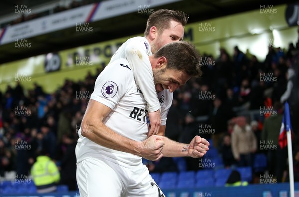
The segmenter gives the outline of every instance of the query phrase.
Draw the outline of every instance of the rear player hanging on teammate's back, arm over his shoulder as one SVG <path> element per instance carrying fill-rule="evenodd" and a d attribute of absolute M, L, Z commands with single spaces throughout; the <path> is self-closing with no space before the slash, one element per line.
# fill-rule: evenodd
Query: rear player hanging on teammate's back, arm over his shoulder
<path fill-rule="evenodd" d="M 160 9 L 149 16 L 145 37 L 128 39 L 112 56 L 111 61 L 126 58 L 131 65 L 138 89 L 143 93 L 147 102 L 147 111 L 151 129 L 149 136 L 159 132 L 160 125 L 165 125 L 166 119 L 162 119 L 160 103 L 153 84 L 152 69 L 149 55 L 167 43 L 177 42 L 184 37 L 184 26 L 188 16 L 181 11 Z M 170 90 L 172 91 L 172 90 Z"/>

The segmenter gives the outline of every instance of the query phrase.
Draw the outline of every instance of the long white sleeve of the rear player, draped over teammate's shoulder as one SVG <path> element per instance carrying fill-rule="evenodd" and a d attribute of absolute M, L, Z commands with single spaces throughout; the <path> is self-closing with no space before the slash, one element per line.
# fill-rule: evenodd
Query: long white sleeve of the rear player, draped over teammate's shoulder
<path fill-rule="evenodd" d="M 139 86 L 147 102 L 149 112 L 160 109 L 153 82 L 152 67 L 149 61 L 151 55 L 149 42 L 144 37 L 135 37 L 127 40 L 113 55 L 115 58 L 126 58 L 131 65 L 136 84 Z"/>

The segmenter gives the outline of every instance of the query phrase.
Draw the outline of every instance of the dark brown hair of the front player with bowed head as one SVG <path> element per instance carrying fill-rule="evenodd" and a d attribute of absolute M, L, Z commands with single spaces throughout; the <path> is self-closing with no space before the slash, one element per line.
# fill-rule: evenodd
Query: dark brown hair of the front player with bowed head
<path fill-rule="evenodd" d="M 161 47 L 154 57 L 164 56 L 167 59 L 167 69 L 183 71 L 190 77 L 200 76 L 199 54 L 194 45 L 185 41 L 172 42 Z"/>

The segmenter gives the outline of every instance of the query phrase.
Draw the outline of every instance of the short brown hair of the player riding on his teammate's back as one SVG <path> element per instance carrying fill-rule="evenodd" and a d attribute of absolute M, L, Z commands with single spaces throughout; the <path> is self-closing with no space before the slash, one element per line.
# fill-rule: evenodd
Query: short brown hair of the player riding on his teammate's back
<path fill-rule="evenodd" d="M 155 26 L 159 32 L 169 28 L 170 21 L 176 21 L 185 26 L 188 22 L 188 16 L 182 11 L 174 11 L 169 9 L 159 9 L 153 12 L 147 21 L 147 27 L 144 35 L 149 35 L 151 27 Z"/>

